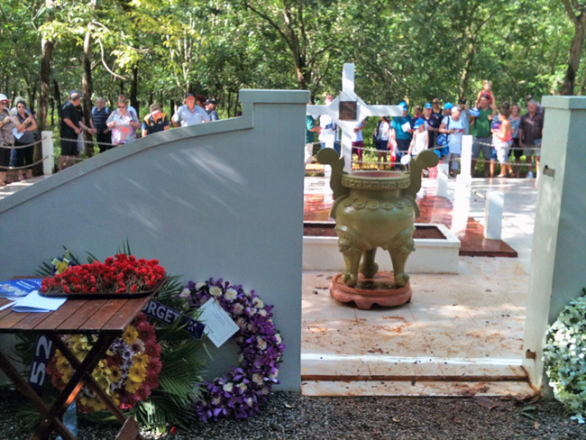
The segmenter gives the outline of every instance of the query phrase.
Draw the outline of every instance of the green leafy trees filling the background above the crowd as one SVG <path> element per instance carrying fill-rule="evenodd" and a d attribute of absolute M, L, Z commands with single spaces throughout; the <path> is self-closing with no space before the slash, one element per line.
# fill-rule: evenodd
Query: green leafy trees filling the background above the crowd
<path fill-rule="evenodd" d="M 193 92 L 215 98 L 224 114 L 234 115 L 240 88 L 335 94 L 343 63 L 354 62 L 357 93 L 372 104 L 471 99 L 484 79 L 492 80 L 499 100 L 562 91 L 581 95 L 584 37 L 576 23 L 585 14 L 571 15 L 568 5 L 5 0 L 0 93 L 25 96 L 33 107 L 52 105 L 44 115 L 53 115 L 69 90 L 90 95 L 87 106 L 96 96 L 113 102 L 124 92 L 134 105 L 157 102 L 168 109 Z"/>

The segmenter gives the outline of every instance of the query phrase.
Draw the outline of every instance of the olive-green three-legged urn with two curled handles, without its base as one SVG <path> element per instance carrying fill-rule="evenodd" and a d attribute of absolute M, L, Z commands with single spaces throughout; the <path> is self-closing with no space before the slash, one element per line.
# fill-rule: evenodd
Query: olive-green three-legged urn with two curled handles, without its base
<path fill-rule="evenodd" d="M 330 187 L 338 245 L 345 261 L 343 283 L 353 288 L 358 273 L 372 279 L 379 270 L 374 262 L 377 248 L 390 254 L 395 287 L 407 285 L 405 263 L 414 250 L 413 233 L 419 208 L 415 201 L 421 188 L 421 171 L 437 165 L 434 151 L 422 151 L 411 160 L 409 171 L 343 172 L 343 159 L 333 149 L 323 149 L 317 160 L 331 165 Z M 362 260 L 362 264 L 361 264 Z"/>

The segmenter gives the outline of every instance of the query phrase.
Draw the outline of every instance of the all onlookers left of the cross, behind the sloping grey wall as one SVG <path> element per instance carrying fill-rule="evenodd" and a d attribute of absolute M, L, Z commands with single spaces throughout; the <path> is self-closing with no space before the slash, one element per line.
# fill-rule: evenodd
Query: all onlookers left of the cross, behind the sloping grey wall
<path fill-rule="evenodd" d="M 68 102 L 60 108 L 59 170 L 75 163 L 79 152 L 85 150 L 84 132 L 95 136 L 99 151 L 103 152 L 133 142 L 138 137 L 139 129 L 144 137 L 169 130 L 170 124 L 187 127 L 219 119 L 215 100 L 206 99 L 203 95 L 188 93 L 184 105 L 179 106 L 170 120 L 158 104 L 151 104 L 149 114 L 141 119 L 133 105 L 129 105 L 126 96 L 120 95 L 115 109 L 106 106 L 104 98 L 96 98 L 96 106 L 91 110 L 87 126 L 84 124 L 82 97 L 79 92 L 72 91 Z M 8 97 L 0 94 L 0 186 L 31 178 L 36 132 L 34 113 L 27 107 L 26 100 L 17 96 L 11 109 Z M 7 172 L 10 168 L 21 172 L 15 177 L 14 173 Z"/>

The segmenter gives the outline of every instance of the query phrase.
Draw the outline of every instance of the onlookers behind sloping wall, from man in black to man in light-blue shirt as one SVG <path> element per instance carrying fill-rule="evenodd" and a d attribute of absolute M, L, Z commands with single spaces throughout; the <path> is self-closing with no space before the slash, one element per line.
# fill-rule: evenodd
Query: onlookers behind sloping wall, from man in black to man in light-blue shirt
<path fill-rule="evenodd" d="M 151 104 L 149 114 L 141 119 L 133 105 L 128 103 L 126 96 L 120 95 L 115 109 L 105 106 L 104 98 L 98 97 L 89 117 L 90 127 L 87 127 L 83 123 L 81 98 L 78 92 L 71 92 L 68 103 L 63 105 L 61 110 L 60 170 L 78 160 L 79 151 L 85 148 L 82 137 L 84 131 L 96 136 L 98 148 L 103 152 L 135 141 L 139 129 L 141 136 L 144 137 L 169 130 L 171 124 L 174 127 L 187 127 L 219 119 L 215 110 L 215 100 L 206 99 L 206 96 L 202 95 L 188 93 L 184 98 L 184 105 L 179 106 L 170 120 L 158 104 Z"/>

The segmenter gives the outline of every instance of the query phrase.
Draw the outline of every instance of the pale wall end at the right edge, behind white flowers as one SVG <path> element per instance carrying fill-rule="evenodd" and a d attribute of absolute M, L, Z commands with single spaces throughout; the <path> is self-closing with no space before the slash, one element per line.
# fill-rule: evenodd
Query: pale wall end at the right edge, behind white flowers
<path fill-rule="evenodd" d="M 586 97 L 544 96 L 536 222 L 529 273 L 523 366 L 531 383 L 549 393 L 544 371 L 545 330 L 586 287 Z M 544 173 L 546 168 L 547 172 Z"/>

